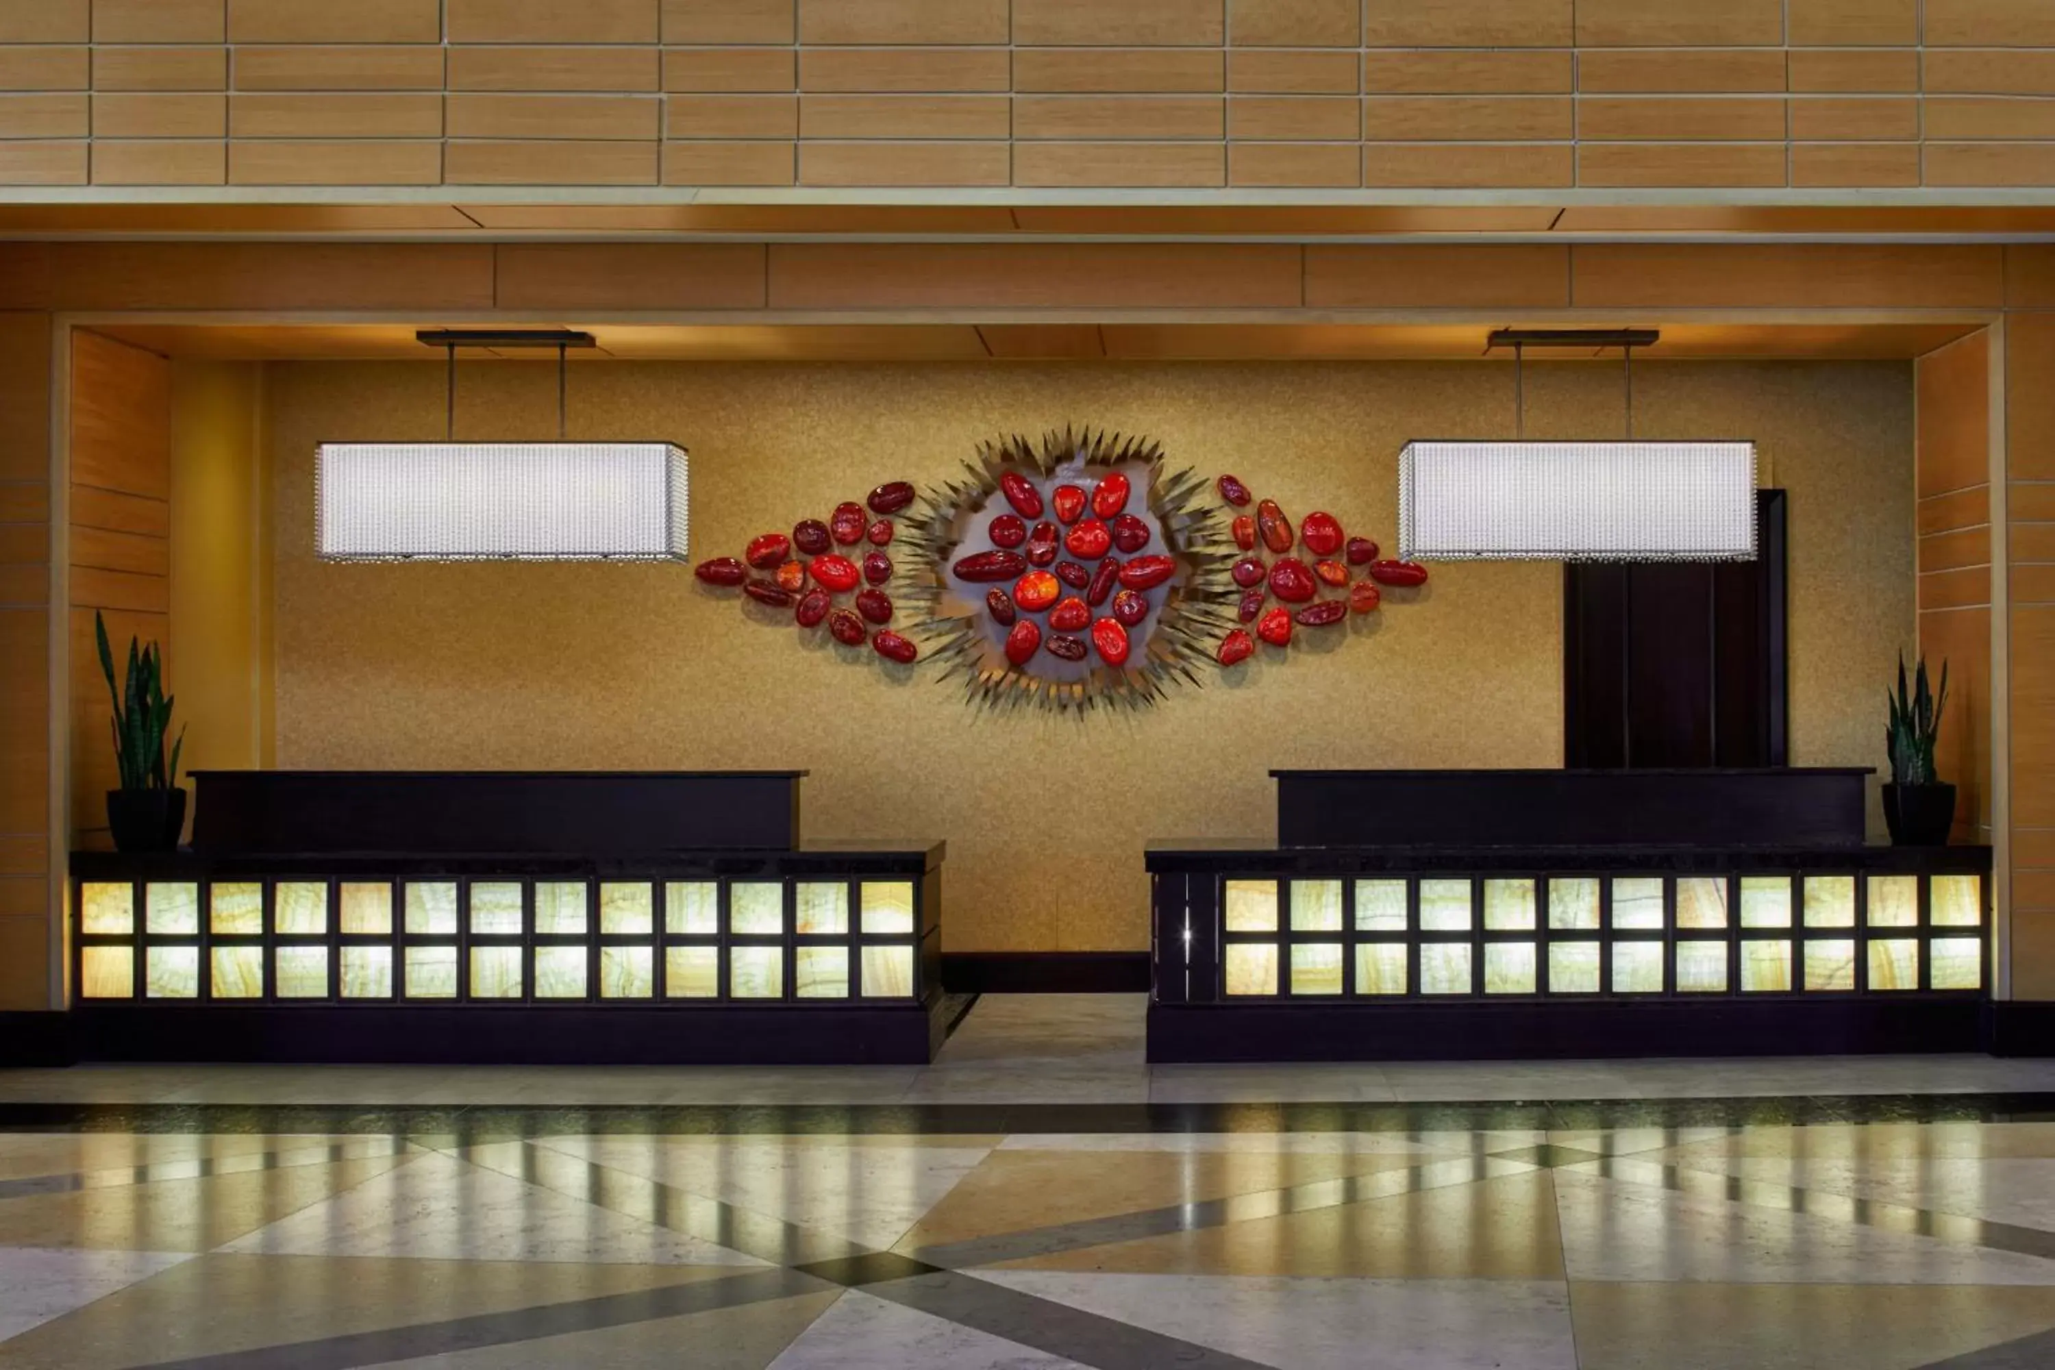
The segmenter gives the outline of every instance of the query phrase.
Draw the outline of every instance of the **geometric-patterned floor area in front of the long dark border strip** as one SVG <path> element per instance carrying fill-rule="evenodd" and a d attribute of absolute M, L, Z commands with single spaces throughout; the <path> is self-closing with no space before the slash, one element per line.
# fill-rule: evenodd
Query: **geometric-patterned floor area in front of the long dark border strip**
<path fill-rule="evenodd" d="M 2045 1370 L 2055 1121 L 1967 1107 L 1223 1132 L 1052 1107 L 1013 1134 L 499 1111 L 477 1136 L 144 1111 L 0 1134 L 0 1366 Z"/>

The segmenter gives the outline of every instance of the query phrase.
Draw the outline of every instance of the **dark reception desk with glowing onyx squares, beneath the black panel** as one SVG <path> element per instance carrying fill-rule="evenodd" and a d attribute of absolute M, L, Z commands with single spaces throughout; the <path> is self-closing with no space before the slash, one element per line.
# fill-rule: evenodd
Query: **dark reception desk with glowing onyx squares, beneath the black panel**
<path fill-rule="evenodd" d="M 1278 844 L 1147 852 L 1151 1060 L 1983 1041 L 1991 852 L 1862 844 L 1862 770 L 1274 774 Z"/>

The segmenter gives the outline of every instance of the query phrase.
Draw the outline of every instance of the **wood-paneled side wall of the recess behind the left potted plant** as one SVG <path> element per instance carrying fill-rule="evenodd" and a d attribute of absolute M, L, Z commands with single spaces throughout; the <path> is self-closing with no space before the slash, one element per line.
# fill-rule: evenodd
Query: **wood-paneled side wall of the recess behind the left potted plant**
<path fill-rule="evenodd" d="M 107 846 L 115 754 L 92 616 L 115 672 L 132 637 L 171 655 L 171 361 L 72 333 L 72 838 Z"/>

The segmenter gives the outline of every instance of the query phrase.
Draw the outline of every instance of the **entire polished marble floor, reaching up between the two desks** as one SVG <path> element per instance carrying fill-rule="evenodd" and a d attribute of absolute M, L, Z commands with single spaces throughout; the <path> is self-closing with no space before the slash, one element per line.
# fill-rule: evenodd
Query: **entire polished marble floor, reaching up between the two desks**
<path fill-rule="evenodd" d="M 2055 1366 L 2055 1070 L 0 1072 L 0 1370 Z"/>

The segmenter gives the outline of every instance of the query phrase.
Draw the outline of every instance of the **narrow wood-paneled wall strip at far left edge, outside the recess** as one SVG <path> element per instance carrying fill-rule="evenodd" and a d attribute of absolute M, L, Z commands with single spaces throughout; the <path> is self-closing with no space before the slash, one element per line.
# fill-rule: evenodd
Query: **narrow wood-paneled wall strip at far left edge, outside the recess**
<path fill-rule="evenodd" d="M 0 1013 L 49 1006 L 49 314 L 0 314 Z"/>

